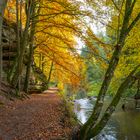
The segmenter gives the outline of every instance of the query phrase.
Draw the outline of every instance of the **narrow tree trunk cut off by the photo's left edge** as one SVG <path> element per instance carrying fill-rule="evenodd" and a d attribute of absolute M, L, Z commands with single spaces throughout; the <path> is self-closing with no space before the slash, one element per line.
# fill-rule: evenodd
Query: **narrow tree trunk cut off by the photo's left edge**
<path fill-rule="evenodd" d="M 2 71 L 3 71 L 3 64 L 2 64 L 2 26 L 3 26 L 3 16 L 4 10 L 6 8 L 7 0 L 0 0 L 0 87 L 2 81 Z"/>

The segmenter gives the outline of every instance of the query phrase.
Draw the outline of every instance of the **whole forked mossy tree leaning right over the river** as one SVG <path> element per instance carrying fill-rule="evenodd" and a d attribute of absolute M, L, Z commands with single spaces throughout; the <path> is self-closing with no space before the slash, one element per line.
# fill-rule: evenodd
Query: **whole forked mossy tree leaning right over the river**
<path fill-rule="evenodd" d="M 123 16 L 123 22 L 121 24 L 121 30 L 120 30 L 120 33 L 118 34 L 118 40 L 116 42 L 116 45 L 114 46 L 114 52 L 110 59 L 109 66 L 106 70 L 104 80 L 103 80 L 101 89 L 99 91 L 93 112 L 90 118 L 87 120 L 87 122 L 80 129 L 80 132 L 79 132 L 80 140 L 89 140 L 90 138 L 96 136 L 103 129 L 103 127 L 109 120 L 111 114 L 114 112 L 115 107 L 117 103 L 119 102 L 120 96 L 122 95 L 124 91 L 124 88 L 128 87 L 136 80 L 134 76 L 139 77 L 139 72 L 135 73 L 135 71 L 138 68 L 137 67 L 128 75 L 126 80 L 122 82 L 111 104 L 105 111 L 102 118 L 99 119 L 99 116 L 103 107 L 103 103 L 104 103 L 104 98 L 109 88 L 110 82 L 113 78 L 114 71 L 118 65 L 120 54 L 122 52 L 122 49 L 124 48 L 126 38 L 128 34 L 131 32 L 131 30 L 136 26 L 136 24 L 140 20 L 140 13 L 137 13 L 135 18 L 131 21 L 131 16 L 132 16 L 135 4 L 136 4 L 135 0 L 134 1 L 126 0 L 125 2 L 122 2 L 122 5 L 124 6 L 124 16 Z"/>

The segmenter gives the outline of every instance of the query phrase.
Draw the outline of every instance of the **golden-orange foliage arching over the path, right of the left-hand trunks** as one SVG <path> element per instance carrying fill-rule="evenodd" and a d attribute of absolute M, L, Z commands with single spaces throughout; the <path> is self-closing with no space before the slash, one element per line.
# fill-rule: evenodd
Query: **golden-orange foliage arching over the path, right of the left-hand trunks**
<path fill-rule="evenodd" d="M 76 87 L 82 78 L 80 71 L 84 63 L 77 53 L 71 51 L 76 46 L 77 30 L 71 13 L 72 4 L 67 0 L 42 0 L 41 6 L 35 34 L 35 53 L 43 55 L 41 63 L 44 64 L 46 75 L 49 73 L 50 63 L 54 62 L 51 81 L 59 81 L 61 88 L 64 83 Z M 34 58 L 39 65 L 38 55 L 34 55 Z"/>

